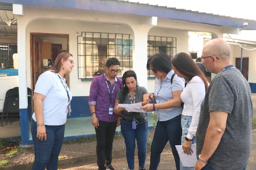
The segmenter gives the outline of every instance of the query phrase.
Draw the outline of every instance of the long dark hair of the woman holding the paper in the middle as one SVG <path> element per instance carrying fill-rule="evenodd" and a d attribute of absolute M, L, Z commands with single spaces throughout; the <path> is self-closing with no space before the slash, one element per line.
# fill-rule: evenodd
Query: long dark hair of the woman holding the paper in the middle
<path fill-rule="evenodd" d="M 134 77 L 134 79 L 136 80 L 136 84 L 137 84 L 136 85 L 136 89 L 137 89 L 137 86 L 138 86 L 138 81 L 137 81 L 136 73 L 134 71 L 132 71 L 132 70 L 125 71 L 125 73 L 123 74 L 123 77 L 122 77 L 123 87 L 121 88 L 121 100 L 120 100 L 120 103 L 124 102 L 125 96 L 129 92 L 128 87 L 125 84 L 125 79 L 128 78 L 128 77 Z M 137 94 L 138 94 L 138 91 L 137 91 Z"/>

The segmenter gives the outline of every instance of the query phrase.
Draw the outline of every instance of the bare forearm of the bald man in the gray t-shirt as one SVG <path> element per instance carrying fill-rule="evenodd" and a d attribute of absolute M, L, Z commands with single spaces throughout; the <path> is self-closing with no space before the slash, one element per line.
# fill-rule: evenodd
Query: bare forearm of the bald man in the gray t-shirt
<path fill-rule="evenodd" d="M 208 160 L 218 147 L 221 137 L 226 129 L 228 113 L 224 111 L 210 111 L 210 121 L 205 134 L 204 146 L 200 158 Z M 201 170 L 206 163 L 197 161 L 195 170 Z"/>

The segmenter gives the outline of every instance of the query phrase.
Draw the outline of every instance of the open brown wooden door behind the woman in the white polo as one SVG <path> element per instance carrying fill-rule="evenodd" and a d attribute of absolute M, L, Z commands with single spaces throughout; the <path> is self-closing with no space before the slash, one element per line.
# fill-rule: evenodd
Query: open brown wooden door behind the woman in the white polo
<path fill-rule="evenodd" d="M 32 35 L 32 86 L 35 90 L 35 83 L 38 77 L 43 73 L 43 55 L 42 55 L 43 39 Z"/>

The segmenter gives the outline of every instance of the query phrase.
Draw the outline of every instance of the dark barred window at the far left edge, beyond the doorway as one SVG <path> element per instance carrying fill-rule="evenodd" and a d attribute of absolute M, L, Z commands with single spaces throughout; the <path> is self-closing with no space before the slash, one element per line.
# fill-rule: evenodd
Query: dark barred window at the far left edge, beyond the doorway
<path fill-rule="evenodd" d="M 0 63 L 4 67 L 13 67 L 13 54 L 17 53 L 17 44 L 0 43 Z"/>

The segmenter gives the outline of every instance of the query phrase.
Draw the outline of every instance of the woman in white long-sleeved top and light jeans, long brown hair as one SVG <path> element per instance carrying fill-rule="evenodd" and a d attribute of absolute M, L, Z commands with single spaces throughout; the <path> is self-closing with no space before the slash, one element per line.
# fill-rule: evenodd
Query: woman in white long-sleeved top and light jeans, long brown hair
<path fill-rule="evenodd" d="M 195 133 L 198 127 L 201 102 L 204 99 L 209 83 L 189 54 L 176 54 L 172 58 L 172 69 L 178 77 L 186 78 L 187 85 L 180 95 L 181 100 L 184 102 L 181 114 L 181 144 L 184 153 L 191 155 L 196 152 L 190 146 L 196 143 Z M 194 170 L 194 167 L 183 167 L 180 161 L 180 170 Z"/>

